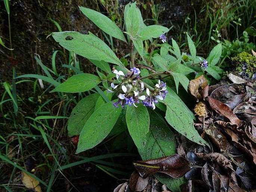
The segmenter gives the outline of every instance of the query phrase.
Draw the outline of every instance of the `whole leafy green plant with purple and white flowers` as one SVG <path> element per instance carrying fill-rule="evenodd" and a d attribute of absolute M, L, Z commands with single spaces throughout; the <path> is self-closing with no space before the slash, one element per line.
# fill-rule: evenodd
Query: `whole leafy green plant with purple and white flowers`
<path fill-rule="evenodd" d="M 220 79 L 222 71 L 216 64 L 221 44 L 204 59 L 197 56 L 195 44 L 187 34 L 190 54 L 181 53 L 174 39 L 172 45 L 167 43 L 168 28 L 144 24 L 135 3 L 125 7 L 124 32 L 107 16 L 84 7 L 80 10 L 111 39 L 114 37 L 132 48 L 127 61 L 125 57 L 118 58 L 113 47 L 110 49 L 91 32 L 87 35 L 71 31 L 52 33 L 65 49 L 97 66 L 98 76 L 74 68 L 77 74 L 55 84 L 52 91 L 90 91 L 77 103 L 68 120 L 69 136 L 79 135 L 76 152 L 93 148 L 107 136 L 118 137 L 126 128 L 142 159 L 175 154 L 173 129 L 192 142 L 208 145 L 193 126 L 194 115 L 177 94 L 179 89 L 188 90 L 189 78 L 204 74 Z M 148 53 L 144 44 L 157 50 Z"/>

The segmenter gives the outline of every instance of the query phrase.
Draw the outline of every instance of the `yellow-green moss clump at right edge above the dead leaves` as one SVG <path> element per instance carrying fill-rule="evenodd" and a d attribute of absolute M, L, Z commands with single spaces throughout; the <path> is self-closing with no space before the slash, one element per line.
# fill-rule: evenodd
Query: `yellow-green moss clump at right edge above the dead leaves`
<path fill-rule="evenodd" d="M 252 78 L 256 72 L 256 57 L 247 52 L 241 52 L 237 56 L 231 58 L 232 65 L 240 75 L 245 79 Z"/>

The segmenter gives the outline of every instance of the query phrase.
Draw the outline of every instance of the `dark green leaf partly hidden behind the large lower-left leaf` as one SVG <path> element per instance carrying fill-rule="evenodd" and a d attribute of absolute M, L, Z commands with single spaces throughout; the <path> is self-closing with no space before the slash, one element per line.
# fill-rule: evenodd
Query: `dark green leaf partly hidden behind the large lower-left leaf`
<path fill-rule="evenodd" d="M 94 93 L 84 97 L 77 103 L 68 119 L 68 136 L 72 137 L 80 134 L 84 124 L 93 114 L 98 98 L 99 94 Z"/>

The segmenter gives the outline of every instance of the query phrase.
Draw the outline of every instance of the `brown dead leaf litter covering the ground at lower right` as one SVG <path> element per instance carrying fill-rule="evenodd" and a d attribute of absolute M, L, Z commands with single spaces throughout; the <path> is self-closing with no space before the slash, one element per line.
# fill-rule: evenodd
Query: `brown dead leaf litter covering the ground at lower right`
<path fill-rule="evenodd" d="M 135 161 L 130 181 L 117 187 L 126 189 L 115 191 L 164 191 L 153 174 L 185 175 L 182 192 L 256 190 L 256 81 L 228 77 L 230 82 L 214 86 L 208 86 L 203 76 L 189 83 L 189 92 L 200 102 L 195 108 L 195 128 L 211 149 L 180 136 L 178 154 Z"/>

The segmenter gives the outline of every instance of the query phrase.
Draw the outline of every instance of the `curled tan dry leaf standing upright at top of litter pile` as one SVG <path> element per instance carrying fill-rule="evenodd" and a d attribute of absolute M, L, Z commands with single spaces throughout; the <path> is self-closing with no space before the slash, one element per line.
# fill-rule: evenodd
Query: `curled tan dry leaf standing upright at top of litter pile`
<path fill-rule="evenodd" d="M 199 93 L 199 88 L 203 89 L 207 85 L 207 79 L 204 77 L 204 75 L 201 75 L 189 82 L 188 90 L 191 95 L 195 96 L 197 99 L 201 99 L 203 96 L 201 96 Z"/>

